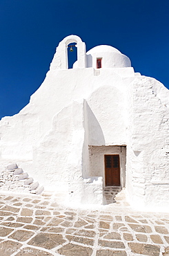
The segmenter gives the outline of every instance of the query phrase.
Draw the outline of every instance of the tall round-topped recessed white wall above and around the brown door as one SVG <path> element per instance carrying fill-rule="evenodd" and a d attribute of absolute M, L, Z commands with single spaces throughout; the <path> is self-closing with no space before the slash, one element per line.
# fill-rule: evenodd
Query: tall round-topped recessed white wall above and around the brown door
<path fill-rule="evenodd" d="M 103 147 L 103 145 L 126 145 L 124 102 L 123 93 L 114 86 L 101 86 L 90 95 L 86 102 L 88 145 L 91 146 L 90 174 L 88 176 L 102 176 L 103 185 L 105 185 L 104 154 L 120 153 L 121 185 L 123 186 L 125 183 L 126 155 L 123 156 L 117 150 L 119 147 Z M 101 147 L 92 147 L 94 145 Z M 95 149 L 94 152 L 91 153 L 91 149 Z"/>

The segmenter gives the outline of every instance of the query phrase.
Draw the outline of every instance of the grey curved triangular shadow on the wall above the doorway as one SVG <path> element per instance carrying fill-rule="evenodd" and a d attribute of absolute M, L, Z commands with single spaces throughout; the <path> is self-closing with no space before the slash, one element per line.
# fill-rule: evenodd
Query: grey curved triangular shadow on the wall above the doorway
<path fill-rule="evenodd" d="M 86 113 L 88 118 L 88 145 L 105 145 L 103 131 L 88 102 L 86 102 Z"/>

